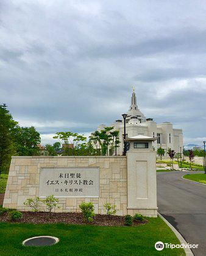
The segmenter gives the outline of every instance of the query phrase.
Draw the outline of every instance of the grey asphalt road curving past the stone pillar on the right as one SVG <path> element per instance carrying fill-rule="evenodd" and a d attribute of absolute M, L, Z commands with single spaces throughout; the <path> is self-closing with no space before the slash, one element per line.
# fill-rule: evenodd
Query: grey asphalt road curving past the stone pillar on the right
<path fill-rule="evenodd" d="M 199 244 L 195 256 L 206 255 L 206 185 L 183 180 L 188 172 L 157 172 L 158 212 L 187 243 Z M 197 172 L 194 172 L 197 173 Z"/>

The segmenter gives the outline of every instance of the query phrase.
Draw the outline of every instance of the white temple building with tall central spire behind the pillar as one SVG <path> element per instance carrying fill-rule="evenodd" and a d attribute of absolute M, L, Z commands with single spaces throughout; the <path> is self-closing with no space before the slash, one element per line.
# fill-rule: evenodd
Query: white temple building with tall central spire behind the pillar
<path fill-rule="evenodd" d="M 119 131 L 119 140 L 121 143 L 119 144 L 117 154 L 122 155 L 124 148 L 124 119 L 116 120 L 111 126 Z M 101 124 L 98 126 L 98 130 L 102 130 L 104 127 L 106 126 Z M 138 108 L 133 88 L 131 105 L 127 111 L 126 117 L 126 137 L 134 137 L 137 135 L 157 137 L 157 140 L 153 143 L 155 150 L 160 147 L 163 149 L 171 148 L 177 153 L 180 152 L 180 147 L 183 147 L 182 129 L 174 129 L 173 125 L 169 122 L 157 124 L 152 118 L 146 118 Z"/>

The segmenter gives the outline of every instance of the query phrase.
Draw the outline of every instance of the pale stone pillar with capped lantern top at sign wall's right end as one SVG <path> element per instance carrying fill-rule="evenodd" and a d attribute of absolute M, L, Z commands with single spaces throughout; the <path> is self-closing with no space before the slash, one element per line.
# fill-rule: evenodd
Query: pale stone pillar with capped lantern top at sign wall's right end
<path fill-rule="evenodd" d="M 138 135 L 127 138 L 127 212 L 157 217 L 156 153 L 152 141 Z"/>

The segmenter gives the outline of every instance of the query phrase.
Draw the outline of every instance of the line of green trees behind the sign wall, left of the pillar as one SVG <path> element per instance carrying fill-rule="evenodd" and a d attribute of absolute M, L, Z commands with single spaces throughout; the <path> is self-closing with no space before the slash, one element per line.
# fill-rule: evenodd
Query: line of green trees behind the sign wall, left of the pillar
<path fill-rule="evenodd" d="M 41 146 L 35 127 L 19 126 L 7 105 L 0 105 L 0 173 L 9 172 L 12 155 L 116 155 L 120 143 L 113 127 L 96 130 L 88 139 L 76 132 L 57 132 L 53 138 L 58 141 Z"/>

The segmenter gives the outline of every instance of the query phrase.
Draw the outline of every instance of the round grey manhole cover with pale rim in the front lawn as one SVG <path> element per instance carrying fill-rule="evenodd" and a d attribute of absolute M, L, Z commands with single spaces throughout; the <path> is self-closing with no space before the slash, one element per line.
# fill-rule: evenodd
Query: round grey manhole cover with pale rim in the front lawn
<path fill-rule="evenodd" d="M 59 239 L 54 236 L 35 236 L 23 241 L 24 246 L 51 246 L 58 243 Z"/>

